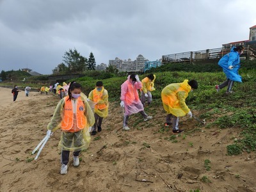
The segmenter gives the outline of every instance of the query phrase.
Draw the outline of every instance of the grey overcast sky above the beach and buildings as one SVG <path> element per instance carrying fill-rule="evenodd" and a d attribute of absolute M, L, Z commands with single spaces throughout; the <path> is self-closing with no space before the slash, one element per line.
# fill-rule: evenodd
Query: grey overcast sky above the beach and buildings
<path fill-rule="evenodd" d="M 97 65 L 248 40 L 255 0 L 0 0 L 0 70 L 51 74 L 65 51 Z"/>

